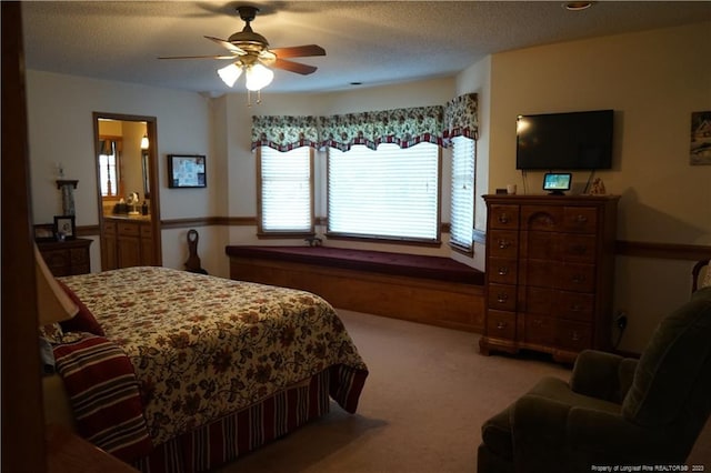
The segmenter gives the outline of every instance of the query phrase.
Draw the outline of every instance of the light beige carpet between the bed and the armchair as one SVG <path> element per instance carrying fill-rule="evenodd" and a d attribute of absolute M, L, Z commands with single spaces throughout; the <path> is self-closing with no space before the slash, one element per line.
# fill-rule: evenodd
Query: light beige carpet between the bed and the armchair
<path fill-rule="evenodd" d="M 479 354 L 479 335 L 339 310 L 370 374 L 358 413 L 331 412 L 220 473 L 477 471 L 481 424 L 541 376 L 544 358 Z M 690 457 L 711 466 L 711 429 Z"/>

